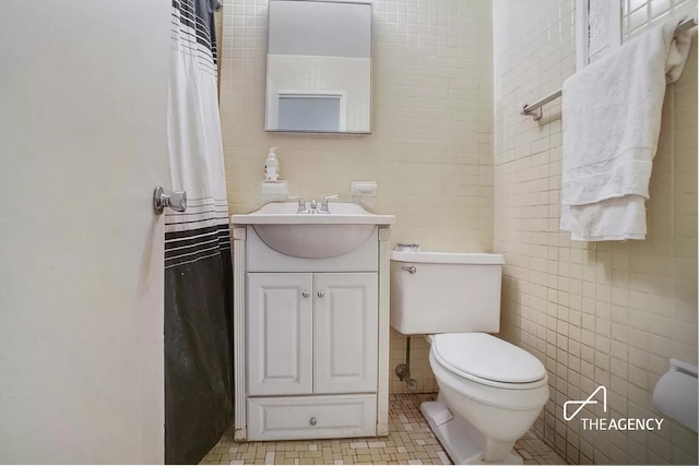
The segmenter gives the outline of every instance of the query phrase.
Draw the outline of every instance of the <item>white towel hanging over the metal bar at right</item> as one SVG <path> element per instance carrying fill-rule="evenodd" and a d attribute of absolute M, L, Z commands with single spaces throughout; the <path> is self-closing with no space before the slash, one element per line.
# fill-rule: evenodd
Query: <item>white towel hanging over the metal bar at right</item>
<path fill-rule="evenodd" d="M 680 22 L 647 31 L 564 84 L 560 228 L 573 240 L 645 238 L 665 85 L 689 53 L 688 33 L 674 39 Z"/>

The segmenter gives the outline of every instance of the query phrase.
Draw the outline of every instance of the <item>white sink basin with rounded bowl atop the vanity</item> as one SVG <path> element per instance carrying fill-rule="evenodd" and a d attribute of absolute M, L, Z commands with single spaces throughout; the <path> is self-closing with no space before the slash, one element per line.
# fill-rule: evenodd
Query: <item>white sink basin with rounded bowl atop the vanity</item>
<path fill-rule="evenodd" d="M 232 215 L 234 225 L 251 225 L 260 239 L 277 252 L 296 258 L 323 259 L 346 254 L 362 246 L 377 225 L 395 222 L 360 205 L 333 202 L 330 214 L 297 214 L 295 202 L 273 202 L 259 211 Z"/>

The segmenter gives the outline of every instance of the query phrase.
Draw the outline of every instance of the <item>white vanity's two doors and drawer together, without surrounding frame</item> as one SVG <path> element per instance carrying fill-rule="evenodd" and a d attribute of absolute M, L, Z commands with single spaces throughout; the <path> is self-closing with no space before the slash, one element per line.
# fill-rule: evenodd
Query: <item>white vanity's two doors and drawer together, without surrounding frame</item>
<path fill-rule="evenodd" d="M 248 438 L 375 435 L 378 273 L 247 276 Z"/>

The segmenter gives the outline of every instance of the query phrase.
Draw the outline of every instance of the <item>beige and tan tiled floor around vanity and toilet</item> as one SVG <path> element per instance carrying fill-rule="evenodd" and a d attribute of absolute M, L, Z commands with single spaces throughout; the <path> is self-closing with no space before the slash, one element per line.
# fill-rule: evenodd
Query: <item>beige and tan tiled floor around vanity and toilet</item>
<path fill-rule="evenodd" d="M 391 395 L 390 434 L 382 438 L 332 439 L 287 442 L 233 441 L 229 429 L 201 464 L 452 464 L 419 411 L 422 402 L 435 395 Z M 524 464 L 566 462 L 529 432 L 514 445 Z"/>

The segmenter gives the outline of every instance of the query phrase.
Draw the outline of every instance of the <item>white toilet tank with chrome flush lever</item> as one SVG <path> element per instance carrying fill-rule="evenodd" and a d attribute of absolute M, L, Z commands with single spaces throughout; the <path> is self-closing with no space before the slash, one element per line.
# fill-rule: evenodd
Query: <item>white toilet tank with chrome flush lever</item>
<path fill-rule="evenodd" d="M 501 254 L 391 251 L 391 326 L 405 335 L 499 332 L 503 264 Z"/>

